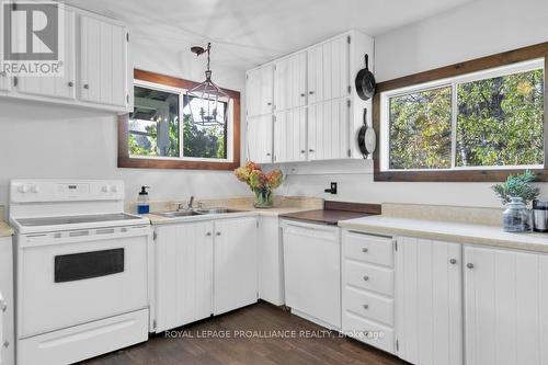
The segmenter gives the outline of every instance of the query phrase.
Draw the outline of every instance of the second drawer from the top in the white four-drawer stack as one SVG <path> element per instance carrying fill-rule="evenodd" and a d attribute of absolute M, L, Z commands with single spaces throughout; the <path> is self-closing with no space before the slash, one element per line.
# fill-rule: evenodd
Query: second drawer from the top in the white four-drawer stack
<path fill-rule="evenodd" d="M 344 282 L 352 286 L 393 295 L 393 270 L 344 260 Z"/>

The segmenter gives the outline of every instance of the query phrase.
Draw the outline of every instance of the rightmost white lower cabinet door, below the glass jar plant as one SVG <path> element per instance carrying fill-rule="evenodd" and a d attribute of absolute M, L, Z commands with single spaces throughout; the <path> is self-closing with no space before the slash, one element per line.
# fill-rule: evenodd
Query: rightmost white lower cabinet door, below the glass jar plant
<path fill-rule="evenodd" d="M 465 247 L 466 364 L 548 364 L 548 256 Z"/>

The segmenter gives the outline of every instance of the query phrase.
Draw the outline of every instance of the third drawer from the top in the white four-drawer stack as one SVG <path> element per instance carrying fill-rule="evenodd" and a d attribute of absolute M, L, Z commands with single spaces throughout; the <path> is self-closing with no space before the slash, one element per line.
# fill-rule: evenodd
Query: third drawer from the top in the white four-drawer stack
<path fill-rule="evenodd" d="M 346 286 L 343 292 L 343 305 L 345 311 L 393 326 L 393 299 Z"/>

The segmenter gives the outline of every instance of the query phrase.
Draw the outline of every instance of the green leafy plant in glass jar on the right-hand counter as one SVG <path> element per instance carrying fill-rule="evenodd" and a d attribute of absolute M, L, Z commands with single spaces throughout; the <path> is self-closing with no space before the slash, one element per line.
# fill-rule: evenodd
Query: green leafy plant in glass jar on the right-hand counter
<path fill-rule="evenodd" d="M 506 231 L 528 231 L 532 228 L 532 205 L 540 193 L 532 185 L 536 174 L 529 170 L 524 173 L 510 175 L 503 184 L 493 185 L 494 193 L 500 197 L 507 209 L 503 214 L 503 228 Z M 520 208 L 520 206 L 523 208 Z M 524 219 L 518 218 L 518 210 L 524 210 Z M 517 218 L 516 218 L 517 217 Z M 524 221 L 521 221 L 524 220 Z M 520 228 L 522 226 L 523 228 Z"/>

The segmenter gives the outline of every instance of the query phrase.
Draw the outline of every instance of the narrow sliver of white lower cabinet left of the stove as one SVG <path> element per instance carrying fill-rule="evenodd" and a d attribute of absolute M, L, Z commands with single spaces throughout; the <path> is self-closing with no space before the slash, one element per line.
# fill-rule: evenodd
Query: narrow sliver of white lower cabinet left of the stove
<path fill-rule="evenodd" d="M 12 238 L 0 237 L 0 364 L 14 365 L 13 251 Z"/>

